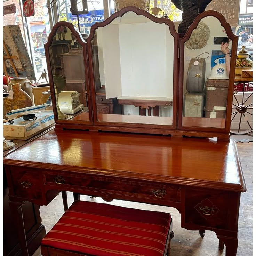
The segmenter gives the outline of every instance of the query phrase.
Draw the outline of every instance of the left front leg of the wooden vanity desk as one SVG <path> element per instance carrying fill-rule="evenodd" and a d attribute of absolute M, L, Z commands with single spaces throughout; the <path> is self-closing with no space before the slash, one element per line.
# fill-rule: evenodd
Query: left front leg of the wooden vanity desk
<path fill-rule="evenodd" d="M 17 202 L 9 202 L 11 214 L 13 216 L 14 222 L 17 226 L 18 238 L 19 243 L 21 245 L 22 255 L 29 256 L 29 251 L 27 249 L 27 239 L 25 233 L 25 227 L 23 222 L 23 215 L 22 215 L 22 203 Z"/>

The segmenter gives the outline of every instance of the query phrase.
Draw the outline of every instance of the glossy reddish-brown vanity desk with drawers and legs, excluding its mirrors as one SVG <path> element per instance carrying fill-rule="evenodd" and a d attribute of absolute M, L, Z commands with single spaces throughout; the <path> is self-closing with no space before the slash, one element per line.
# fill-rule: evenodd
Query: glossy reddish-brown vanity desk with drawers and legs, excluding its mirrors
<path fill-rule="evenodd" d="M 3 162 L 14 216 L 25 200 L 48 205 L 58 191 L 170 206 L 181 227 L 214 231 L 236 255 L 246 187 L 233 141 L 53 130 Z M 14 221 L 27 256 L 23 222 Z"/>

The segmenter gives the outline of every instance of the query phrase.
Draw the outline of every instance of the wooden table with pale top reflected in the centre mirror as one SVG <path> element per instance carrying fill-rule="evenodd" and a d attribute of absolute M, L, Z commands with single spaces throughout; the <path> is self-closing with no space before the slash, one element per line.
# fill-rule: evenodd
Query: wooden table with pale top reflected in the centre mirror
<path fill-rule="evenodd" d="M 118 97 L 119 105 L 134 105 L 139 107 L 139 115 L 151 116 L 151 110 L 153 109 L 153 116 L 159 117 L 159 106 L 172 106 L 173 100 L 165 97 Z"/>

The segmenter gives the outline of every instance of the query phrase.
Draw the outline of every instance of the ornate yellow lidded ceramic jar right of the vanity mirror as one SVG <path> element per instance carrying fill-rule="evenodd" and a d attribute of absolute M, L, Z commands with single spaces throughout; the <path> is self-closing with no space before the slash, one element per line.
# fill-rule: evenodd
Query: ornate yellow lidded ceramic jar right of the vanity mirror
<path fill-rule="evenodd" d="M 252 70 L 253 61 L 249 58 L 249 53 L 242 45 L 242 49 L 237 54 L 237 61 L 235 64 L 235 75 L 242 75 L 242 70 Z"/>

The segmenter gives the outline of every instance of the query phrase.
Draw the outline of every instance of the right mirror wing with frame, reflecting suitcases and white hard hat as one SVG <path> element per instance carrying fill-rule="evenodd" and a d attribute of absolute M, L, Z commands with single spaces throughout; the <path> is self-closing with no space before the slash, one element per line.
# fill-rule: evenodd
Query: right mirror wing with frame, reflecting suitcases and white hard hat
<path fill-rule="evenodd" d="M 225 131 L 230 125 L 237 38 L 222 15 L 208 16 L 211 13 L 198 16 L 180 40 L 184 50 L 180 60 L 179 124 L 183 129 Z"/>

